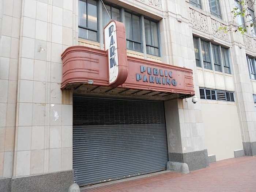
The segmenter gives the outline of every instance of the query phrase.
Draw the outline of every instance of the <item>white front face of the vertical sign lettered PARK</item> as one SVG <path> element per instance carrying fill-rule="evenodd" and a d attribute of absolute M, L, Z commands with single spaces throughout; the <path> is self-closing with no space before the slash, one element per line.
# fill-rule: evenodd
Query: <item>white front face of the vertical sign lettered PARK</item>
<path fill-rule="evenodd" d="M 119 72 L 116 28 L 116 23 L 112 21 L 104 29 L 105 50 L 108 50 L 109 84 L 117 80 Z"/>

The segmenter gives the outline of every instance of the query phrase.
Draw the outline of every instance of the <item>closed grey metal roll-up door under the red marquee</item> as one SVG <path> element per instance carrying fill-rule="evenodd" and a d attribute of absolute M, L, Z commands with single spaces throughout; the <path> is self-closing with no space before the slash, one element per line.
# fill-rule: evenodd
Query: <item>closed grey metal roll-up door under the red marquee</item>
<path fill-rule="evenodd" d="M 73 109 L 80 186 L 166 170 L 163 102 L 74 96 Z"/>

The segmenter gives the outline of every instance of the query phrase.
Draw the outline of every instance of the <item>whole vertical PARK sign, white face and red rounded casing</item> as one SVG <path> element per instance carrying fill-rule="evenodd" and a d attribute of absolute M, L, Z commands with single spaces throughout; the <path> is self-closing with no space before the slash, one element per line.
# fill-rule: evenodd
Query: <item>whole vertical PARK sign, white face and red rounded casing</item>
<path fill-rule="evenodd" d="M 124 24 L 111 20 L 104 28 L 105 51 L 108 51 L 109 85 L 117 87 L 128 76 L 128 61 Z"/>

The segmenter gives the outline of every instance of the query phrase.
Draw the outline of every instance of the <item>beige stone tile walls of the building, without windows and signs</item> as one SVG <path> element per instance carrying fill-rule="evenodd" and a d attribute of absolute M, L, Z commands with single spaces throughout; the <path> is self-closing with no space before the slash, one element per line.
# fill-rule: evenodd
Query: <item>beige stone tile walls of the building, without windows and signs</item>
<path fill-rule="evenodd" d="M 217 160 L 235 150 L 252 155 L 256 80 L 246 54 L 256 57 L 256 38 L 250 30 L 218 31 L 237 25 L 234 0 L 220 0 L 222 19 L 201 1 L 202 9 L 188 0 L 106 2 L 159 21 L 161 57 L 128 55 L 193 69 L 199 102 L 165 102 L 169 158 L 205 150 Z M 61 53 L 72 45 L 103 49 L 102 34 L 99 42 L 78 38 L 78 0 L 0 0 L 0 178 L 73 169 L 72 91 L 60 89 Z M 196 67 L 193 35 L 229 48 L 231 74 Z M 234 92 L 235 102 L 200 99 L 199 87 Z"/>

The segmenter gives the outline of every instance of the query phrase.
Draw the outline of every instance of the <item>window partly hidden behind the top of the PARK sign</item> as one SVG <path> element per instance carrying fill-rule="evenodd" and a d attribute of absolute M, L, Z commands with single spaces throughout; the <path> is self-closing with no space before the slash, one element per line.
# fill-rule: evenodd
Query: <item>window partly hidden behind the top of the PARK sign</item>
<path fill-rule="evenodd" d="M 112 6 L 106 5 L 106 9 L 108 10 L 108 13 L 111 16 L 111 19 L 120 21 L 120 10 L 117 8 L 114 8 Z M 108 22 L 110 21 L 109 15 L 106 11 L 104 5 L 102 5 L 102 19 L 103 19 L 103 27 L 105 27 Z"/>

